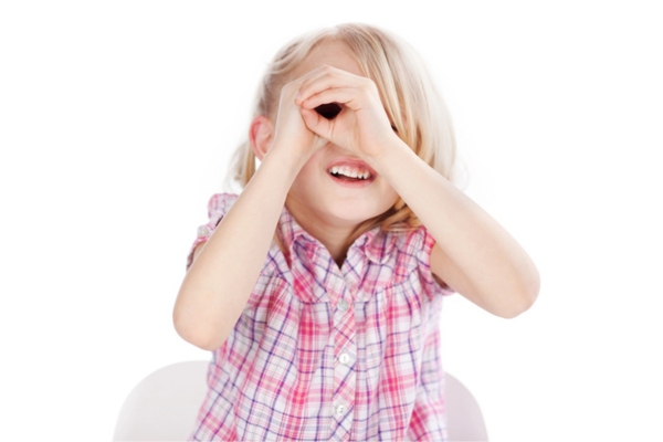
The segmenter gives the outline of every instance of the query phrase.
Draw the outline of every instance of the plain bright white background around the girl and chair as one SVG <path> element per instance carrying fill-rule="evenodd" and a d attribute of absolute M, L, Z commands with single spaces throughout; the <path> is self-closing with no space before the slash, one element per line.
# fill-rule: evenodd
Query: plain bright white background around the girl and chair
<path fill-rule="evenodd" d="M 467 194 L 541 274 L 515 319 L 445 304 L 491 439 L 661 440 L 663 15 L 534 3 L 2 2 L 0 439 L 109 440 L 144 377 L 209 358 L 171 309 L 263 67 L 360 21 L 428 61 Z"/>

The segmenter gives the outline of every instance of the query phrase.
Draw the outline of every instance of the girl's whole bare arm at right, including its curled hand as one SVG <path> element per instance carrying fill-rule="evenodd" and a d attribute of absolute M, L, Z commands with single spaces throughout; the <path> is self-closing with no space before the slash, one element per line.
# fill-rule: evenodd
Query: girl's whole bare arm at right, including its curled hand
<path fill-rule="evenodd" d="M 296 102 L 311 130 L 365 159 L 419 217 L 436 242 L 433 274 L 498 316 L 534 303 L 539 276 L 527 253 L 391 130 L 372 81 L 326 66 L 303 83 Z M 334 120 L 308 110 L 333 102 L 344 105 Z"/>

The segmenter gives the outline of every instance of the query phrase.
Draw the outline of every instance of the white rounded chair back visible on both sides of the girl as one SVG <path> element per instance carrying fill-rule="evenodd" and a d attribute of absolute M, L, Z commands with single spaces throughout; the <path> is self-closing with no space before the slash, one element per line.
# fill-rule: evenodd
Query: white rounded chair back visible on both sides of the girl
<path fill-rule="evenodd" d="M 114 441 L 186 441 L 207 392 L 208 361 L 164 367 L 145 378 L 126 399 Z M 446 415 L 450 441 L 487 441 L 476 400 L 446 373 Z"/>

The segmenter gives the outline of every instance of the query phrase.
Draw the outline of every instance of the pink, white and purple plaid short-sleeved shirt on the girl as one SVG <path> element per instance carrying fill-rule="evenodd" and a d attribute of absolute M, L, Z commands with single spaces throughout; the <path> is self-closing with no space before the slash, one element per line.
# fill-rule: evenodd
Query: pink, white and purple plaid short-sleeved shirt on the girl
<path fill-rule="evenodd" d="M 236 196 L 214 194 L 206 241 Z M 433 238 L 376 228 L 341 269 L 286 209 L 255 288 L 208 371 L 191 435 L 208 440 L 446 440 Z M 189 256 L 189 263 L 191 255 Z"/>

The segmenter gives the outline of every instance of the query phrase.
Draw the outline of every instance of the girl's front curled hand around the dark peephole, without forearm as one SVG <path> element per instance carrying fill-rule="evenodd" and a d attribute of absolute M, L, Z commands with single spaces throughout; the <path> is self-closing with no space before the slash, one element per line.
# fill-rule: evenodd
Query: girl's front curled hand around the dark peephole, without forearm
<path fill-rule="evenodd" d="M 317 72 L 316 72 L 317 71 Z M 338 115 L 327 119 L 315 108 L 336 103 Z M 333 67 L 320 66 L 307 74 L 295 104 L 308 129 L 360 158 L 377 157 L 398 136 L 385 112 L 372 80 Z"/>

